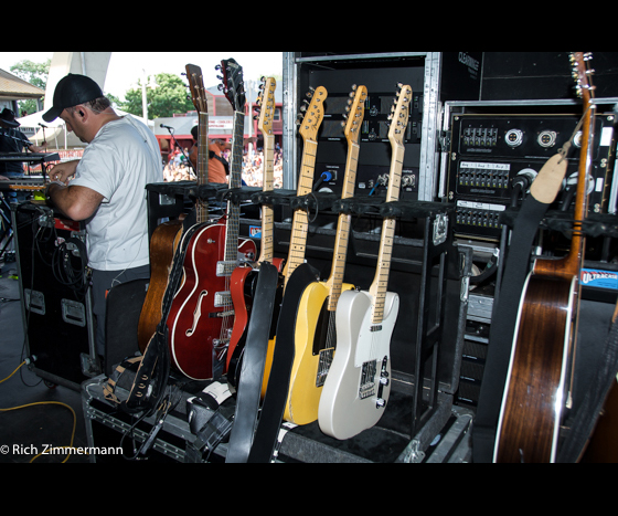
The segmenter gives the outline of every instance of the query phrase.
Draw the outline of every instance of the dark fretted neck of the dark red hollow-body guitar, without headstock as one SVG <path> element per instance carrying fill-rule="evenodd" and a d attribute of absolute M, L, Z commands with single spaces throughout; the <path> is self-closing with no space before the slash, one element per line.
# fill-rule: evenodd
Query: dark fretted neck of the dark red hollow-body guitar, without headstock
<path fill-rule="evenodd" d="M 241 188 L 243 183 L 243 146 L 245 131 L 244 113 L 234 113 L 234 139 L 230 159 L 230 188 Z M 227 202 L 227 222 L 225 232 L 225 262 L 236 263 L 238 260 L 238 231 L 241 225 L 241 207 Z"/>

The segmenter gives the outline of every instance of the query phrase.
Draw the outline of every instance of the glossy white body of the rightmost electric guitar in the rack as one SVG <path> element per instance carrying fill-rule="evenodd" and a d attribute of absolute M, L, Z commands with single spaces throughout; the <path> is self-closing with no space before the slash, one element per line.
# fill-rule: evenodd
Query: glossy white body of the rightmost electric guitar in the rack
<path fill-rule="evenodd" d="M 391 337 L 399 297 L 386 294 L 379 331 L 371 330 L 372 302 L 369 292 L 347 291 L 337 306 L 337 354 L 320 398 L 318 421 L 322 432 L 338 440 L 374 427 L 391 394 Z M 383 400 L 382 407 L 379 400 Z"/>

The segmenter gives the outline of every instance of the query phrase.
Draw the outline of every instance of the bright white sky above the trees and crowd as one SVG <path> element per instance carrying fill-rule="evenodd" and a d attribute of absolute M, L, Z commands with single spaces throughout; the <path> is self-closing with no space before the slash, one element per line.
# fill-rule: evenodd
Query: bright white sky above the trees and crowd
<path fill-rule="evenodd" d="M 20 61 L 42 63 L 53 55 L 53 52 L 0 52 L 0 69 L 10 72 Z M 142 71 L 146 75 L 167 72 L 181 76 L 189 63 L 202 69 L 206 88 L 216 86 L 221 81 L 214 67 L 230 57 L 243 67 L 245 81 L 258 81 L 262 75 L 283 75 L 283 52 L 113 52 L 104 89 L 124 98 L 125 92 L 136 87 Z"/>

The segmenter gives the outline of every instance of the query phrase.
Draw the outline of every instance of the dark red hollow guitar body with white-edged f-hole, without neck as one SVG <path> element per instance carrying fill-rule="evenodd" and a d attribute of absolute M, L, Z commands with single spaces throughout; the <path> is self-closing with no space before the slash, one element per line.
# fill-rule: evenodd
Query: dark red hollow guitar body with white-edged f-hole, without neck
<path fill-rule="evenodd" d="M 227 276 L 217 276 L 217 263 L 225 256 L 225 225 L 201 228 L 187 248 L 183 281 L 168 316 L 169 346 L 172 364 L 194 380 L 214 378 L 225 351 L 217 340 L 232 308 Z M 255 255 L 255 243 L 238 241 L 238 253 Z M 220 301 L 215 302 L 220 294 Z M 221 302 L 223 299 L 223 302 Z"/>

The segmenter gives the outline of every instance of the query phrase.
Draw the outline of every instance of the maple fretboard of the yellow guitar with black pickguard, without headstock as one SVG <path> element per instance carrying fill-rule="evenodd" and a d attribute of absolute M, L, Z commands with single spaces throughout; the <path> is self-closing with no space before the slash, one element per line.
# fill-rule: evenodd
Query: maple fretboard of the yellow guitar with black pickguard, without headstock
<path fill-rule="evenodd" d="M 343 183 L 342 199 L 354 197 L 354 188 L 356 185 L 356 168 L 359 165 L 360 146 L 351 143 L 348 146 L 348 160 L 345 166 L 345 180 Z M 332 270 L 327 282 L 329 287 L 329 305 L 328 310 L 337 310 L 339 297 L 341 297 L 341 288 L 343 286 L 343 276 L 345 273 L 345 261 L 348 257 L 348 243 L 350 241 L 350 228 L 352 215 L 340 214 L 337 224 L 337 238 L 334 241 L 334 254 L 332 261 Z"/>

